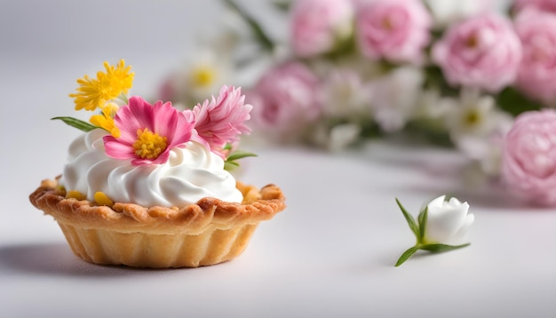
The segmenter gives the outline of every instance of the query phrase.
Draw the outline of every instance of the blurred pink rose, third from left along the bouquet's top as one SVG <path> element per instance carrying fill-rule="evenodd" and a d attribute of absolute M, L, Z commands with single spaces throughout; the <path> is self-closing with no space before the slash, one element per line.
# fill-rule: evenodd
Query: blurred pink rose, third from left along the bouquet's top
<path fill-rule="evenodd" d="M 433 46 L 433 60 L 450 84 L 496 92 L 517 76 L 520 39 L 503 16 L 475 16 L 448 29 Z"/>

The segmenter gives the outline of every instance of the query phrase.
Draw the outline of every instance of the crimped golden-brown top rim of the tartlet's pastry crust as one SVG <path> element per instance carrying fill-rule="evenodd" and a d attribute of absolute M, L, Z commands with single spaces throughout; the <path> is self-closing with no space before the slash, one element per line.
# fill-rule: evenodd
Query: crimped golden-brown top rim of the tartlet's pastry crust
<path fill-rule="evenodd" d="M 112 208 L 87 200 L 66 198 L 66 192 L 55 180 L 44 180 L 29 196 L 37 209 L 50 214 L 63 224 L 80 228 L 101 228 L 122 233 L 156 235 L 198 235 L 209 228 L 229 229 L 272 219 L 285 209 L 282 190 L 268 185 L 256 187 L 237 182 L 243 194 L 242 203 L 227 203 L 203 198 L 183 208 L 143 207 L 133 203 L 115 203 Z"/>

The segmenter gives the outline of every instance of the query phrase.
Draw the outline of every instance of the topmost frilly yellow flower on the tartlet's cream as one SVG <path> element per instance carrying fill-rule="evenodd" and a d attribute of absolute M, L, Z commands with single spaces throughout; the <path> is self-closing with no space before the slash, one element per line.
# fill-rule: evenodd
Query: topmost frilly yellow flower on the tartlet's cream
<path fill-rule="evenodd" d="M 97 78 L 83 76 L 77 80 L 79 87 L 75 93 L 69 97 L 75 99 L 75 110 L 85 108 L 95 110 L 120 96 L 127 94 L 133 83 L 134 73 L 131 73 L 131 66 L 125 66 L 125 61 L 120 60 L 116 66 L 111 66 L 104 62 L 106 73 L 98 72 Z"/>

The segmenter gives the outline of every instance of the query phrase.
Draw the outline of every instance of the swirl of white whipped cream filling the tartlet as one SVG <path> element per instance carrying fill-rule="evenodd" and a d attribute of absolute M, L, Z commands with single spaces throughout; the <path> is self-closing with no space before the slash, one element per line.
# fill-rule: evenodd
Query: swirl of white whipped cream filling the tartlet
<path fill-rule="evenodd" d="M 114 202 L 146 207 L 183 207 L 203 197 L 241 203 L 235 179 L 224 170 L 224 160 L 203 145 L 189 141 L 171 149 L 163 164 L 132 165 L 106 155 L 102 136 L 93 130 L 75 139 L 69 147 L 68 164 L 60 179 L 67 190 L 76 190 L 92 200 L 101 191 Z"/>

